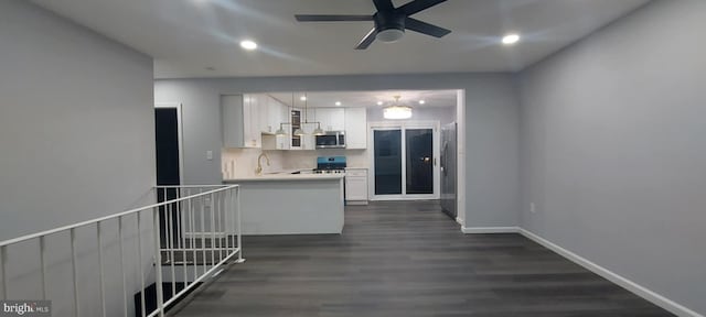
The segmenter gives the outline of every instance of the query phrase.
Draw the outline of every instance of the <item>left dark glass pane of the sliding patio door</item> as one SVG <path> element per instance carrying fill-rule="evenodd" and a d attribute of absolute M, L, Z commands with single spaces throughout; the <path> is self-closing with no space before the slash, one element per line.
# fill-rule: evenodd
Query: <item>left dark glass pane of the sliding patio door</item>
<path fill-rule="evenodd" d="M 373 131 L 375 195 L 402 194 L 402 130 Z"/>

